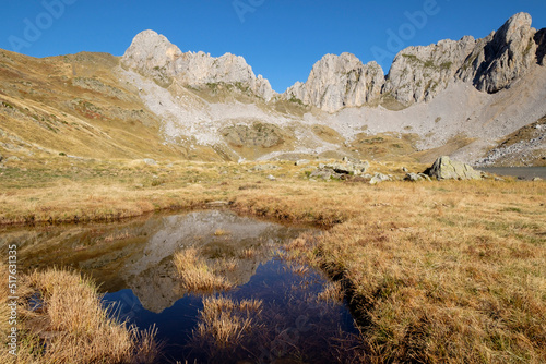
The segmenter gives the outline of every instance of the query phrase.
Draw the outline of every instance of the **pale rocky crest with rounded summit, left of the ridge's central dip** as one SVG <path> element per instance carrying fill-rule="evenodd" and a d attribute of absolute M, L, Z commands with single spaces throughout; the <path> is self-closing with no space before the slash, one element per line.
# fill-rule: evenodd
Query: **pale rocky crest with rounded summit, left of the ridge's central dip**
<path fill-rule="evenodd" d="M 153 31 L 138 34 L 121 58 L 124 68 L 152 77 L 162 86 L 174 80 L 199 87 L 206 84 L 241 84 L 256 95 L 270 100 L 274 92 L 268 80 L 258 77 L 242 57 L 226 53 L 214 58 L 204 52 L 183 53 L 165 36 Z"/>

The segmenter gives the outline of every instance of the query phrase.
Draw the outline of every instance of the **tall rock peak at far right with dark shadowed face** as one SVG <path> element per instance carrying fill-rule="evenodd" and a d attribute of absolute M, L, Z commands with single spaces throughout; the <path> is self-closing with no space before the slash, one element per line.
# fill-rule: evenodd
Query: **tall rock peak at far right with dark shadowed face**
<path fill-rule="evenodd" d="M 487 93 L 497 93 L 521 77 L 535 63 L 536 31 L 527 13 L 519 13 L 495 33 L 473 62 L 474 85 Z"/>

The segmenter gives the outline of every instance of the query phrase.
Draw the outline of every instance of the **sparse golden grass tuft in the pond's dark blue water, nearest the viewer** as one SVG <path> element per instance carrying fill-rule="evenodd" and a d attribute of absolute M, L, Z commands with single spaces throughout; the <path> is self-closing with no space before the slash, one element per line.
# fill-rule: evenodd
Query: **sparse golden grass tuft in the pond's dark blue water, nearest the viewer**
<path fill-rule="evenodd" d="M 217 348 L 237 347 L 254 324 L 253 317 L 259 316 L 261 311 L 261 300 L 205 298 L 193 337 L 205 341 L 212 338 Z"/>

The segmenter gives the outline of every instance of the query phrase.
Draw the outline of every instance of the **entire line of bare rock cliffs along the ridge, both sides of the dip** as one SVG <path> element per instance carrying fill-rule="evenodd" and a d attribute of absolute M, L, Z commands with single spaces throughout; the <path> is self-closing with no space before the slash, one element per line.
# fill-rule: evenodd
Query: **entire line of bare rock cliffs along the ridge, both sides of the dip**
<path fill-rule="evenodd" d="M 531 23 L 531 15 L 519 13 L 483 39 L 466 36 L 408 47 L 396 54 L 387 80 L 376 62 L 363 64 L 351 53 L 327 54 L 313 65 L 305 83 L 297 82 L 283 97 L 335 112 L 347 107 L 376 106 L 385 99 L 404 106 L 426 102 L 455 81 L 472 82 L 480 92 L 497 93 L 510 87 L 533 63 L 544 64 L 545 31 L 536 32 Z M 174 80 L 193 87 L 226 83 L 244 86 L 265 100 L 275 96 L 268 80 L 257 77 L 242 57 L 183 53 L 153 31 L 134 37 L 121 63 L 164 87 Z"/>

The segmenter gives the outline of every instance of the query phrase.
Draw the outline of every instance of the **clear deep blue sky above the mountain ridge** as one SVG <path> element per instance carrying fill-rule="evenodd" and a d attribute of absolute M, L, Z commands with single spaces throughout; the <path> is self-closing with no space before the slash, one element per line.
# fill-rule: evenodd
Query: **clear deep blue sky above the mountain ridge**
<path fill-rule="evenodd" d="M 387 73 L 407 46 L 484 37 L 520 11 L 546 27 L 545 0 L 3 0 L 0 48 L 121 56 L 139 32 L 154 29 L 182 51 L 242 56 L 284 92 L 325 53 L 378 60 Z"/>

